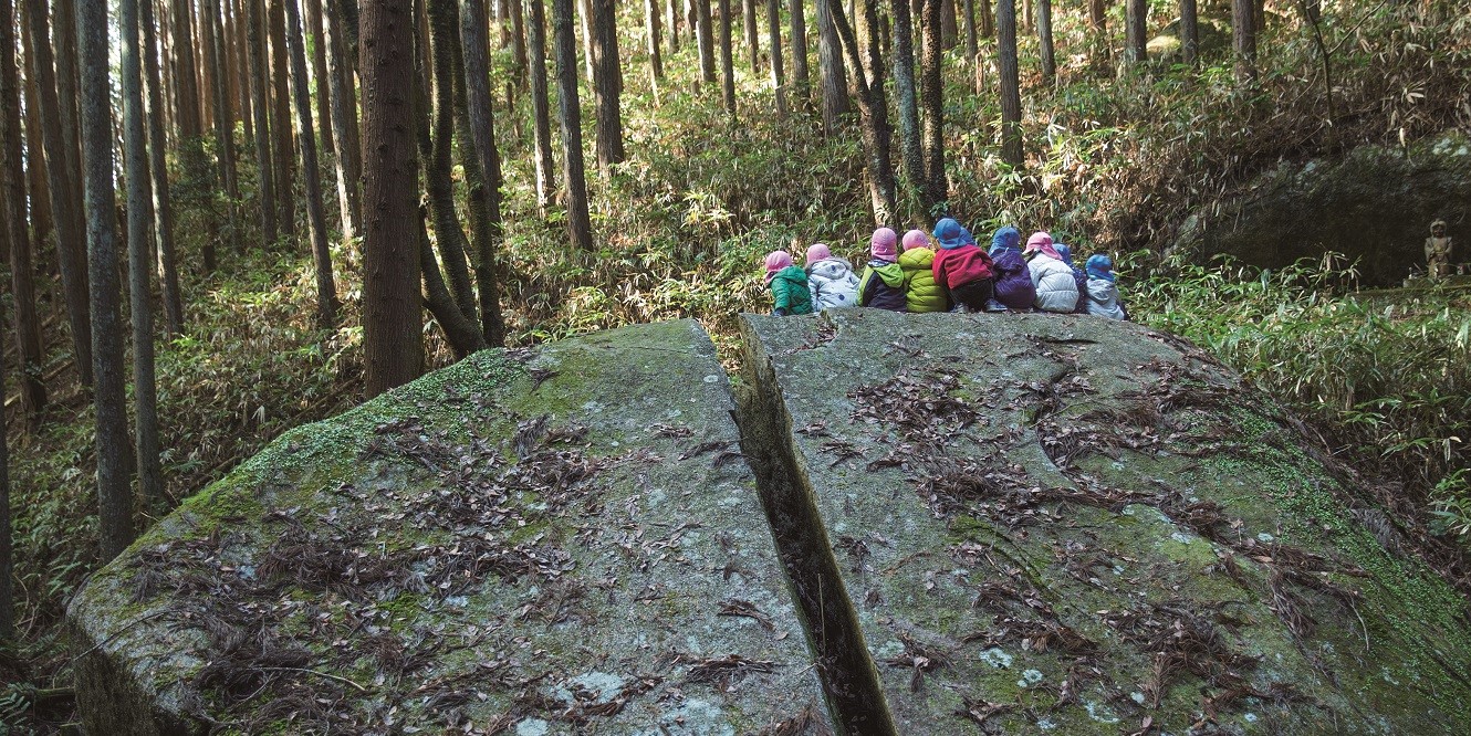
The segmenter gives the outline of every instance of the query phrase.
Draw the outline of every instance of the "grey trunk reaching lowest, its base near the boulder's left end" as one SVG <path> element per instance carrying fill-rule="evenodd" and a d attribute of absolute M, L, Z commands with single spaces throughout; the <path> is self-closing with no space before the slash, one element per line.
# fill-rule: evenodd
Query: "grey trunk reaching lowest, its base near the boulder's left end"
<path fill-rule="evenodd" d="M 78 1 L 76 47 L 81 73 L 87 79 L 107 79 L 107 0 Z M 112 100 L 106 84 L 84 84 L 81 88 L 82 194 L 87 209 L 96 380 L 93 403 L 97 407 L 97 497 L 101 508 L 101 558 L 112 560 L 132 542 L 128 408 L 122 379 L 118 250 L 113 234 Z"/>

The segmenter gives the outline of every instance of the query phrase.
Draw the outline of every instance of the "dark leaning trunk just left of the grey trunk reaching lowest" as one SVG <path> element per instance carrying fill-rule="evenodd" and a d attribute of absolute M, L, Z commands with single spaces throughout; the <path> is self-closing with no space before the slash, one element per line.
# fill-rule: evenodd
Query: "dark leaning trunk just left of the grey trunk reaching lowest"
<path fill-rule="evenodd" d="M 69 6 L 72 0 L 59 0 L 57 9 Z M 62 13 L 57 13 L 60 19 Z M 76 185 L 79 178 L 72 176 L 76 165 L 75 148 L 68 137 L 68 107 L 62 104 L 60 88 L 63 87 L 63 69 L 75 69 L 72 62 L 53 66 L 50 31 L 47 24 L 46 0 L 25 0 L 25 21 L 31 28 L 31 38 L 35 41 L 37 88 L 41 97 L 41 145 L 46 148 L 46 179 L 51 195 L 51 216 L 56 223 L 57 269 L 62 272 L 62 289 L 66 292 L 66 317 L 72 333 L 72 357 L 76 375 L 82 388 L 93 385 L 93 354 L 91 354 L 91 295 L 87 276 L 85 231 L 82 228 L 82 206 L 78 201 L 81 194 Z M 74 26 L 75 32 L 75 26 Z M 57 47 L 65 48 L 62 38 L 68 34 L 57 29 Z M 54 71 L 53 71 L 54 69 Z M 75 85 L 71 87 L 75 91 Z M 75 100 L 75 97 L 72 97 Z M 75 125 L 75 122 L 72 123 Z M 71 128 L 75 131 L 75 126 Z"/>

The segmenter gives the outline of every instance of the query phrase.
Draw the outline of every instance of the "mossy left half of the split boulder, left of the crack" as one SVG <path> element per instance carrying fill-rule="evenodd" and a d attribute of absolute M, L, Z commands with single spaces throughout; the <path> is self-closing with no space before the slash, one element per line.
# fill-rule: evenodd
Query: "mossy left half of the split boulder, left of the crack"
<path fill-rule="evenodd" d="M 76 596 L 85 729 L 827 732 L 733 408 L 678 322 L 296 429 Z"/>

